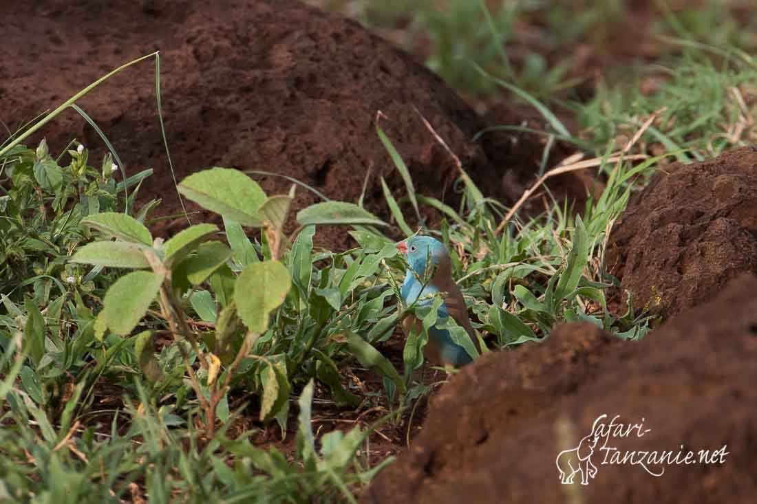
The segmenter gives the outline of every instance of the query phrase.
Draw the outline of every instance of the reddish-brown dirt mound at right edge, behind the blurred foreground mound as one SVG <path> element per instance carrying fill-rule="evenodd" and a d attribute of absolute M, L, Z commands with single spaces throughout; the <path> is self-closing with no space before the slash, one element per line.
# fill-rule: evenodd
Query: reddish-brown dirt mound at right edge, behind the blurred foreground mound
<path fill-rule="evenodd" d="M 668 316 L 757 273 L 757 151 L 674 163 L 634 195 L 612 228 L 606 263 L 634 306 Z"/>

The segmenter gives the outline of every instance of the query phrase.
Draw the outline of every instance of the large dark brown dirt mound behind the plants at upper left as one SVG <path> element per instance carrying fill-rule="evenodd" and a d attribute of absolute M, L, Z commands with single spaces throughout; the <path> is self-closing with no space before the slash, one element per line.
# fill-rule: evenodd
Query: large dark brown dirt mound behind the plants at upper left
<path fill-rule="evenodd" d="M 417 107 L 475 182 L 506 199 L 503 172 L 470 142 L 484 127 L 475 111 L 410 55 L 351 20 L 294 0 L 122 0 L 107 8 L 45 0 L 5 3 L 0 17 L 0 119 L 11 128 L 107 70 L 160 49 L 166 133 L 179 180 L 208 166 L 235 166 L 291 176 L 329 198 L 357 201 L 370 170 L 366 207 L 387 215 L 378 176 L 388 176 L 400 193 L 404 187 L 375 133 L 382 110 L 388 117 L 382 126 L 410 166 L 417 191 L 454 200 L 456 169 L 422 126 Z M 160 214 L 179 213 L 152 63 L 120 73 L 79 104 L 111 138 L 128 173 L 156 171 L 142 201 L 163 198 Z M 102 145 L 73 110 L 44 134 L 58 149 L 71 135 Z M 257 179 L 269 194 L 290 184 Z M 295 209 L 316 201 L 301 188 Z M 194 217 L 201 219 L 207 216 Z M 161 230 L 171 234 L 184 224 L 174 219 Z M 345 236 L 339 229 L 330 241 L 344 244 Z"/>

